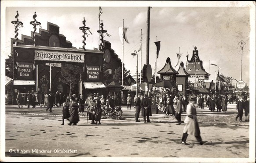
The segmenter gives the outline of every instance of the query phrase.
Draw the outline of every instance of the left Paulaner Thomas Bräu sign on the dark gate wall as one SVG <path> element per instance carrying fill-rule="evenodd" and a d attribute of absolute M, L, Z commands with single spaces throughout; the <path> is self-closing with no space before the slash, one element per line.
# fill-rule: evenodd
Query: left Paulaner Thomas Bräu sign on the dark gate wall
<path fill-rule="evenodd" d="M 17 62 L 17 79 L 32 79 L 33 64 L 28 62 Z"/>

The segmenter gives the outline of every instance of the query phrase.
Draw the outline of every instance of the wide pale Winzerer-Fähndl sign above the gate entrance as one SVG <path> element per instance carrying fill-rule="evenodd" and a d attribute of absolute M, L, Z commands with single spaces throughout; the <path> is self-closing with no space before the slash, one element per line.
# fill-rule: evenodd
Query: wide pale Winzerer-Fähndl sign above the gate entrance
<path fill-rule="evenodd" d="M 84 53 L 35 50 L 35 60 L 45 60 L 45 61 L 51 60 L 51 61 L 84 63 Z"/>

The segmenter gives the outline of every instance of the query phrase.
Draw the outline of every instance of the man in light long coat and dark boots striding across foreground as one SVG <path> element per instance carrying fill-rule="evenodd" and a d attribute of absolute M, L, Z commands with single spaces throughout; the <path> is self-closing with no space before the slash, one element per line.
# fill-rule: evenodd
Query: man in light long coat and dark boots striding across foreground
<path fill-rule="evenodd" d="M 187 117 L 184 120 L 185 127 L 183 129 L 183 135 L 181 138 L 181 143 L 183 145 L 189 145 L 187 141 L 188 135 L 194 135 L 197 139 L 197 142 L 200 142 L 200 145 L 205 144 L 208 141 L 203 141 L 201 138 L 201 132 L 199 128 L 199 124 L 197 121 L 197 110 L 194 106 L 196 104 L 197 97 L 191 96 L 190 103 L 187 105 Z"/>

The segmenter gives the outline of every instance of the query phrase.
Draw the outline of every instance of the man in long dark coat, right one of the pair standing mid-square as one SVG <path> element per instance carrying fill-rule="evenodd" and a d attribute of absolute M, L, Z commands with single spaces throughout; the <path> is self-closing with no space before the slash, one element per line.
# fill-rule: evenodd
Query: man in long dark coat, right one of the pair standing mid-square
<path fill-rule="evenodd" d="M 147 95 L 144 96 L 144 98 L 141 100 L 141 116 L 143 117 L 144 123 L 148 122 L 150 123 L 150 116 L 152 116 L 151 113 L 151 101 L 148 98 Z"/>

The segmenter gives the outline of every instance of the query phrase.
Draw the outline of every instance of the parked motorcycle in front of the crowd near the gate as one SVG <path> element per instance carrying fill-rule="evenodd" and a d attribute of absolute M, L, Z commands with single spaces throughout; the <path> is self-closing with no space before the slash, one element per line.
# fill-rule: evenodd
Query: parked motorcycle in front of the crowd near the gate
<path fill-rule="evenodd" d="M 102 114 L 101 118 L 111 118 L 118 119 L 122 116 L 122 108 L 121 106 L 115 106 L 114 108 L 107 107 L 106 105 L 102 106 Z"/>

